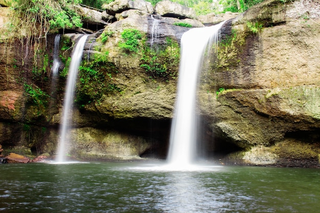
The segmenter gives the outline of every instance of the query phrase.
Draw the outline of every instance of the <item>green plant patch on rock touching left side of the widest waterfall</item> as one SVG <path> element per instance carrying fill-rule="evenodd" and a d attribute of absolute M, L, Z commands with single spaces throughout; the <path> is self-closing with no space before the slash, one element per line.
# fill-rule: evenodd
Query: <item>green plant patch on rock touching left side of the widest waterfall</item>
<path fill-rule="evenodd" d="M 140 66 L 150 72 L 153 78 L 175 79 L 179 58 L 179 44 L 167 37 L 167 43 L 159 50 L 153 50 L 149 46 L 145 46 Z"/>

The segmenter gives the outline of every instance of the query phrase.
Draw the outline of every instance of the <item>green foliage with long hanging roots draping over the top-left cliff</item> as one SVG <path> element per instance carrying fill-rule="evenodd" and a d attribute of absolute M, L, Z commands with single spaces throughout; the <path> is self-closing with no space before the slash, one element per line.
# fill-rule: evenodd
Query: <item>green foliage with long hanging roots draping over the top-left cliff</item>
<path fill-rule="evenodd" d="M 33 46 L 34 58 L 40 49 L 42 39 L 51 31 L 81 27 L 80 16 L 71 4 L 79 0 L 14 0 L 14 13 L 10 18 L 7 34 L 12 40 L 18 38 L 22 44 Z M 24 40 L 26 38 L 26 40 Z M 34 61 L 36 63 L 36 60 Z"/>

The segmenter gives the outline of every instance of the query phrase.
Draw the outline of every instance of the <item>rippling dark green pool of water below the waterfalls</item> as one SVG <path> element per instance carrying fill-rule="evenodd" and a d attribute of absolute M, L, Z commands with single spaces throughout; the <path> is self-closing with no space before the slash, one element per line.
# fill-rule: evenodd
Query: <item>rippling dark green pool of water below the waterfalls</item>
<path fill-rule="evenodd" d="M 319 212 L 320 170 L 141 162 L 0 165 L 0 212 Z"/>

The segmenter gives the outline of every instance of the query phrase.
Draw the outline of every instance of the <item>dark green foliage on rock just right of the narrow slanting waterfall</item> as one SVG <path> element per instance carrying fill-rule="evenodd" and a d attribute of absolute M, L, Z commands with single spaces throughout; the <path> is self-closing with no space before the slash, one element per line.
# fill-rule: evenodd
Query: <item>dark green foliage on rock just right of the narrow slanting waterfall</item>
<path fill-rule="evenodd" d="M 100 102 L 104 94 L 122 91 L 114 82 L 115 64 L 108 61 L 108 52 L 94 54 L 79 67 L 77 100 L 80 107 L 90 102 Z"/>

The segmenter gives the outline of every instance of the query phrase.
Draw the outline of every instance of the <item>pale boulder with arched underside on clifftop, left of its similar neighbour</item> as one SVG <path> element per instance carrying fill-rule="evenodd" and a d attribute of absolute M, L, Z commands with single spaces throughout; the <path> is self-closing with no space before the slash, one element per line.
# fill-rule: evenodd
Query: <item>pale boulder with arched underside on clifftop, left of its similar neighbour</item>
<path fill-rule="evenodd" d="M 153 6 L 150 2 L 145 2 L 144 0 L 116 0 L 108 5 L 103 5 L 106 13 L 115 16 L 117 13 L 122 13 L 123 11 L 136 9 L 141 10 L 149 14 L 154 13 Z"/>

